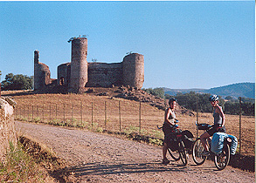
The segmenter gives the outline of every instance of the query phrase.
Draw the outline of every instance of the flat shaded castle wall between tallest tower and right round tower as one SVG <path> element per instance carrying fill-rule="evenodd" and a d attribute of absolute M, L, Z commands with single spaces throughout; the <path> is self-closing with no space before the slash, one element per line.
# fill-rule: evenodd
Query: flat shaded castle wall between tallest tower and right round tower
<path fill-rule="evenodd" d="M 122 84 L 122 64 L 88 63 L 89 87 L 110 87 Z"/>

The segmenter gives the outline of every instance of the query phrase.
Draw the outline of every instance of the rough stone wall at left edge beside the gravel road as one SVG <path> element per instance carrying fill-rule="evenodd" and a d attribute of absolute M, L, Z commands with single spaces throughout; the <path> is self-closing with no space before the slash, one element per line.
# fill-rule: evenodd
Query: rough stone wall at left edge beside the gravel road
<path fill-rule="evenodd" d="M 10 98 L 0 98 L 0 159 L 3 161 L 10 142 L 17 144 L 13 108 L 16 103 Z"/>

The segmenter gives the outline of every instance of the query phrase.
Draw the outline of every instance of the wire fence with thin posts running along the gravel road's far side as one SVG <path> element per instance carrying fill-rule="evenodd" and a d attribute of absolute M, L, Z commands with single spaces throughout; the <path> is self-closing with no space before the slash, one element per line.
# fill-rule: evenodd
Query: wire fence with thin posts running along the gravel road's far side
<path fill-rule="evenodd" d="M 204 113 L 201 114 L 199 119 L 204 118 L 204 115 Z M 163 132 L 157 130 L 156 125 L 163 124 L 163 116 L 163 110 L 152 110 L 152 107 L 149 110 L 149 105 L 142 102 L 130 103 L 120 100 L 91 102 L 70 100 L 59 102 L 59 104 L 17 105 L 15 108 L 15 118 L 18 120 L 82 127 L 98 132 L 103 130 L 126 133 L 139 132 L 159 139 L 163 139 Z M 180 124 L 182 129 L 190 130 L 193 134 L 197 133 L 194 123 L 195 120 L 198 120 L 198 115 L 190 119 L 181 116 L 180 119 L 185 121 L 185 123 Z M 244 151 L 241 148 L 242 145 L 249 146 L 247 145 L 248 134 L 246 134 L 248 131 L 243 132 L 241 115 L 237 126 L 239 128 L 235 131 L 232 126 L 228 126 L 228 128 L 232 129 L 233 135 L 239 139 L 239 153 L 246 153 L 248 148 L 246 147 Z M 254 149 L 255 142 L 253 141 L 250 146 L 252 146 L 251 149 Z"/>

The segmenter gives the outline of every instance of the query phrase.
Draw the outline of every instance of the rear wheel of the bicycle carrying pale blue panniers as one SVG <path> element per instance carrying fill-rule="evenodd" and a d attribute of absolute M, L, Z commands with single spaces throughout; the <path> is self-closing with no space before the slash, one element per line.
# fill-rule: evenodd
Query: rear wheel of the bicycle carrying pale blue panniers
<path fill-rule="evenodd" d="M 223 170 L 225 166 L 229 164 L 230 161 L 230 146 L 225 144 L 222 152 L 214 156 L 214 164 L 218 170 Z"/>

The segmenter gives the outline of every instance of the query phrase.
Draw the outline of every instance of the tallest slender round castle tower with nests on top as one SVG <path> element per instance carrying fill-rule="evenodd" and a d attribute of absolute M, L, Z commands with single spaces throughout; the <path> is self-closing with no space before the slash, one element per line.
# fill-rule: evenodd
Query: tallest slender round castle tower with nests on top
<path fill-rule="evenodd" d="M 81 92 L 87 82 L 87 38 L 72 40 L 71 77 L 69 91 Z"/>

